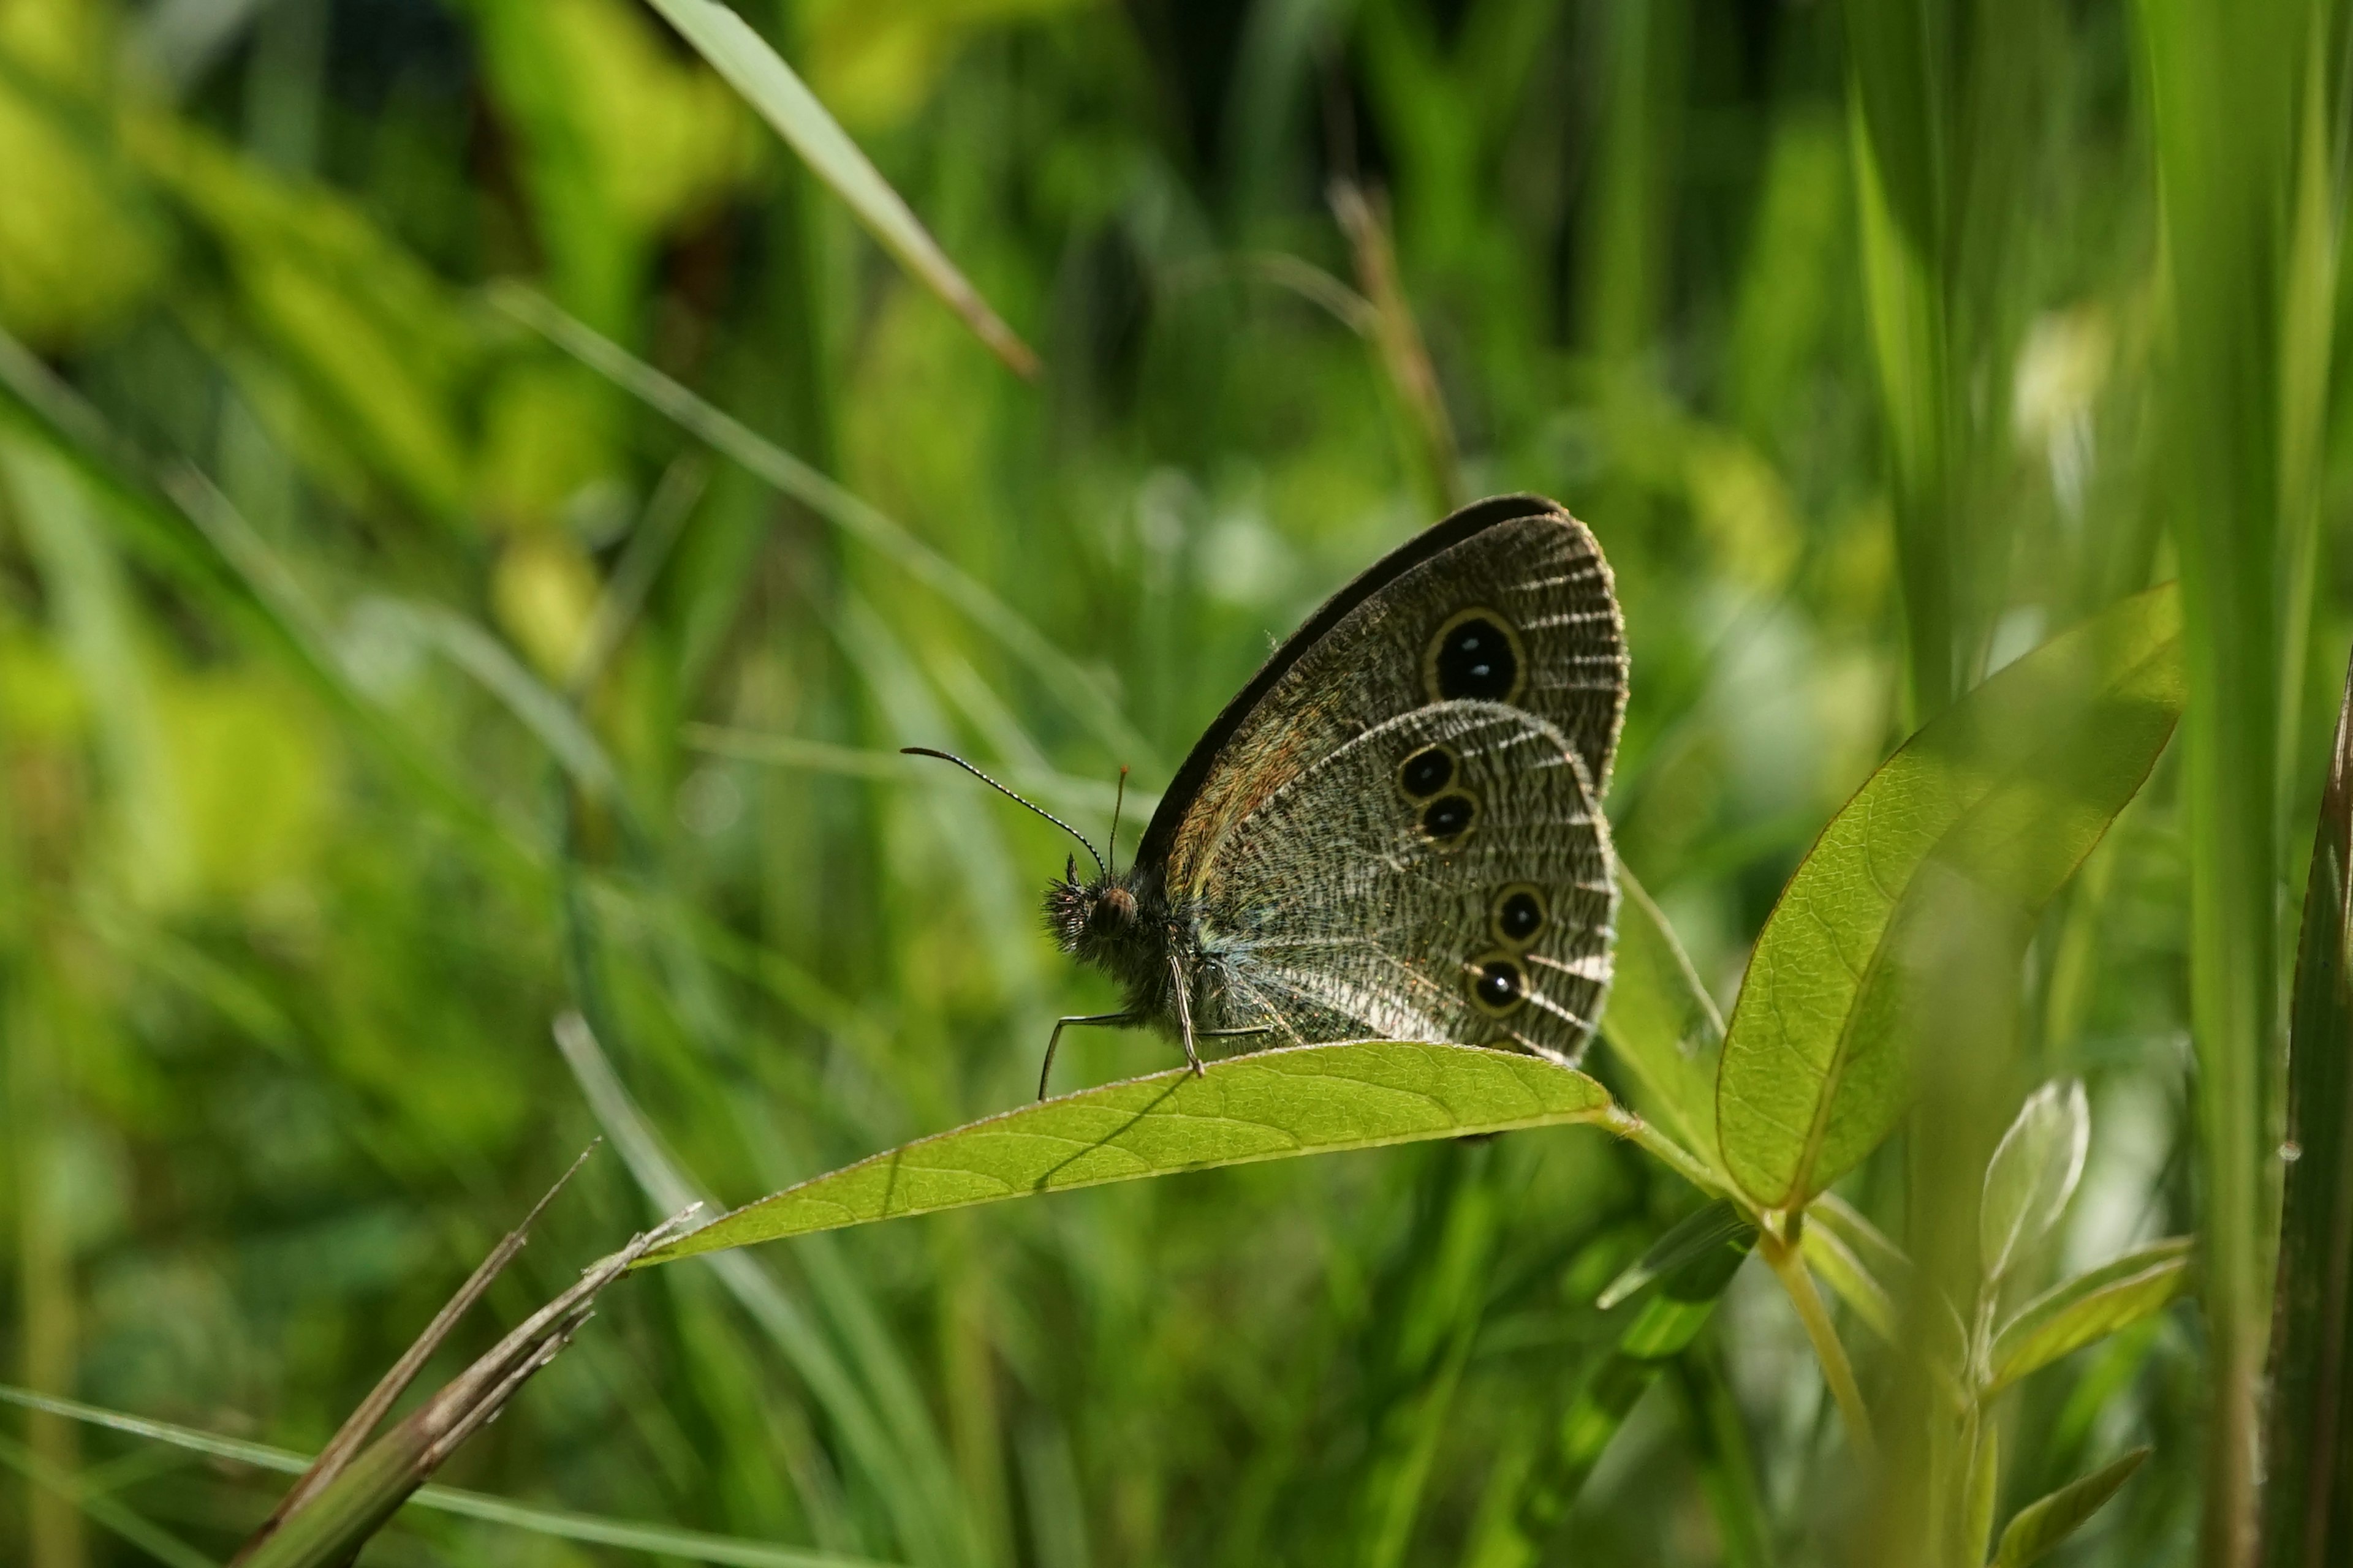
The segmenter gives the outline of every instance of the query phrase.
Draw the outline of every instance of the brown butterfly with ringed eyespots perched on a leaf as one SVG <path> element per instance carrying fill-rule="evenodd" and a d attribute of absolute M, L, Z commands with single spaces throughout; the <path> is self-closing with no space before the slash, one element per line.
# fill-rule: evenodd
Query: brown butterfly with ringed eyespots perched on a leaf
<path fill-rule="evenodd" d="M 1497 496 L 1391 550 L 1226 703 L 1127 867 L 1040 811 L 1096 860 L 1064 863 L 1047 929 L 1125 1006 L 1054 1025 L 1038 1095 L 1073 1025 L 1155 1025 L 1195 1072 L 1238 1037 L 1574 1065 L 1609 992 L 1624 710 L 1609 564 L 1565 508 Z"/>

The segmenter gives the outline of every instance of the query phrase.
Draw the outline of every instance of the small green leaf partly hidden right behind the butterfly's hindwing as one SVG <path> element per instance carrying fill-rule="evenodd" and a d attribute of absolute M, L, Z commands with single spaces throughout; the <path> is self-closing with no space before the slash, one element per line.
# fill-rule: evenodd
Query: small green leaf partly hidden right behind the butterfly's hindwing
<path fill-rule="evenodd" d="M 1713 1159 L 1715 1058 L 1725 1044 L 1725 1018 L 1666 914 L 1624 863 L 1617 872 L 1624 898 L 1602 1039 L 1635 1079 L 1635 1110 L 1666 1124 L 1682 1147 Z"/>

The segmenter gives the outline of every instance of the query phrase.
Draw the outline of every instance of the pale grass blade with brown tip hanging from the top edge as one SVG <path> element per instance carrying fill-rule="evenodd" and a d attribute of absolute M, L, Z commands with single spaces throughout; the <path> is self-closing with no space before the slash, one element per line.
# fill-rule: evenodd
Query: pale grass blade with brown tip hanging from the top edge
<path fill-rule="evenodd" d="M 913 273 L 922 287 L 932 289 L 955 315 L 972 327 L 972 334 L 988 346 L 988 353 L 1005 360 L 1019 376 L 1038 376 L 1038 355 L 1014 336 L 1014 329 L 998 320 L 981 292 L 974 289 L 948 254 L 939 249 L 929 230 L 915 219 L 908 205 L 892 190 L 889 181 L 873 167 L 859 143 L 826 113 L 816 94 L 793 75 L 765 38 L 751 31 L 741 16 L 715 0 L 647 0 L 661 12 L 678 35 L 694 45 L 694 52 L 711 61 L 711 68 L 727 78 L 727 85 L 744 94 L 762 120 L 800 153 L 802 162 L 826 181 L 859 223 L 882 242 L 892 256 Z"/>

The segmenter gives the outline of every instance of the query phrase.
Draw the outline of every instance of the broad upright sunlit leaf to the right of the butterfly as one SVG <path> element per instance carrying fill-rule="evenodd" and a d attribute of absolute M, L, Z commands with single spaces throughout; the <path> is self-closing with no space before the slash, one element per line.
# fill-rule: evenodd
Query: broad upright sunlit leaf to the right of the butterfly
<path fill-rule="evenodd" d="M 1802 1204 L 1878 1147 L 1911 1098 L 1906 985 L 1944 898 L 2024 940 L 2179 712 L 2167 585 L 1988 679 L 1847 802 L 1765 922 L 1725 1037 L 1718 1145 L 1751 1199 Z"/>

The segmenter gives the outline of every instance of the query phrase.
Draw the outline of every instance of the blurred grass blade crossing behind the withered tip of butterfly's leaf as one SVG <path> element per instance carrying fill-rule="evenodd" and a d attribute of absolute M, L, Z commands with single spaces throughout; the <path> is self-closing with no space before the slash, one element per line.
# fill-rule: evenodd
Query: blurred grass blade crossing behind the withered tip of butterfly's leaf
<path fill-rule="evenodd" d="M 598 1126 L 612 1138 L 652 1206 L 664 1211 L 694 1201 L 699 1197 L 694 1182 L 661 1147 L 612 1063 L 605 1060 L 588 1023 L 579 1013 L 565 1013 L 555 1020 L 555 1044 L 595 1112 Z M 774 1340 L 826 1410 L 826 1420 L 840 1434 L 852 1465 L 889 1514 L 892 1530 L 908 1559 L 915 1563 L 967 1561 L 972 1537 L 955 1476 L 920 1399 L 913 1410 L 906 1408 L 906 1399 L 896 1401 L 894 1418 L 885 1418 L 866 1380 L 852 1371 L 824 1328 L 809 1319 L 800 1300 L 772 1272 L 741 1255 L 720 1255 L 711 1262 L 727 1293 Z M 906 1378 L 887 1382 L 896 1387 Z"/>

